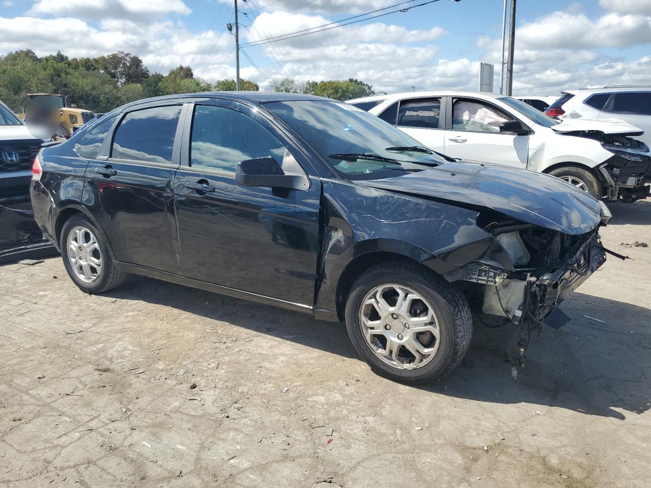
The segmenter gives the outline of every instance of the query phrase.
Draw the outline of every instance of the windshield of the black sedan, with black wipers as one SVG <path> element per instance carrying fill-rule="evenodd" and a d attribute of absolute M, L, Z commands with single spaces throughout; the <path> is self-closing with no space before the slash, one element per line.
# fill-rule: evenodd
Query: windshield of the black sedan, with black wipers
<path fill-rule="evenodd" d="M 347 180 L 391 178 L 444 162 L 404 132 L 348 103 L 297 100 L 264 107 Z"/>

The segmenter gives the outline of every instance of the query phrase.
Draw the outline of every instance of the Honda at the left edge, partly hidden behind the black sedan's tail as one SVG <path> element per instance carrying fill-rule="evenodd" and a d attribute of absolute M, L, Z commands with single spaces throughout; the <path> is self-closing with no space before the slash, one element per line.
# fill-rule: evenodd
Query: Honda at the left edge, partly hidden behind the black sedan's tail
<path fill-rule="evenodd" d="M 0 263 L 50 247 L 29 200 L 32 165 L 42 142 L 0 102 Z"/>

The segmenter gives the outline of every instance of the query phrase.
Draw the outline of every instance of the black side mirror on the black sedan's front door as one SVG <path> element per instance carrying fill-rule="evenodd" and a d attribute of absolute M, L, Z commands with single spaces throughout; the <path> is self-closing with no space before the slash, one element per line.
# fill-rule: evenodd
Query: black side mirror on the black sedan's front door
<path fill-rule="evenodd" d="M 235 181 L 243 186 L 287 188 L 299 191 L 305 191 L 310 187 L 310 181 L 304 173 L 285 172 L 273 157 L 257 157 L 241 161 L 235 170 Z"/>

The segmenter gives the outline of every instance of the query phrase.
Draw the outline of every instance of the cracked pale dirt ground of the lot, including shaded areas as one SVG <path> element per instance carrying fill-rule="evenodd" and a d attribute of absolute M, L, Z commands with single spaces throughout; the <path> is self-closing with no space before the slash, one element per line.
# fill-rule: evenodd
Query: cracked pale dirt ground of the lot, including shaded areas
<path fill-rule="evenodd" d="M 634 260 L 562 305 L 518 379 L 506 327 L 413 388 L 341 325 L 146 278 L 89 296 L 60 258 L 0 267 L 0 486 L 649 487 L 651 247 L 621 243 L 651 245 L 651 201 L 612 210 L 603 241 Z"/>

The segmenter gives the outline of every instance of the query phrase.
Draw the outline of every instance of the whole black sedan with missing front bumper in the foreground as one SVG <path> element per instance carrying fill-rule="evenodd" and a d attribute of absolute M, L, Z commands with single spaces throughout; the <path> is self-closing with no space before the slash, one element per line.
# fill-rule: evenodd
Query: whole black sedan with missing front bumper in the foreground
<path fill-rule="evenodd" d="M 609 213 L 583 191 L 443 159 L 303 94 L 130 103 L 44 148 L 33 174 L 36 221 L 81 290 L 136 273 L 345 321 L 406 383 L 460 362 L 471 310 L 528 337 L 605 260 Z"/>

